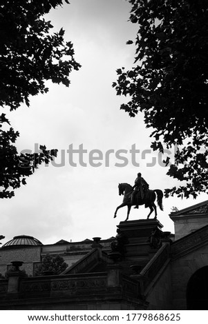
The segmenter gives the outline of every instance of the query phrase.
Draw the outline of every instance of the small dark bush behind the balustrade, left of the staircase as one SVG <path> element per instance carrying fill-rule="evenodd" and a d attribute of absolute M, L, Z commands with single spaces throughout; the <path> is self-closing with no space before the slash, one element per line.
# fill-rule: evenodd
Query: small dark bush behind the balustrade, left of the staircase
<path fill-rule="evenodd" d="M 64 262 L 62 256 L 52 257 L 50 254 L 46 254 L 43 262 L 37 268 L 35 276 L 40 276 L 44 271 L 52 271 L 54 274 L 61 274 L 68 267 L 67 263 Z"/>

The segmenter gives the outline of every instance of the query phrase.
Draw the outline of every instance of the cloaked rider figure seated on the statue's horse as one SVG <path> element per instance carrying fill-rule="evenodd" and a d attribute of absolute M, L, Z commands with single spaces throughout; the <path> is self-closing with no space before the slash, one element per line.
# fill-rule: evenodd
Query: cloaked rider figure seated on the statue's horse
<path fill-rule="evenodd" d="M 133 185 L 133 193 L 131 194 L 131 203 L 136 203 L 135 208 L 139 207 L 139 199 L 144 199 L 147 190 L 149 190 L 149 184 L 142 178 L 142 174 L 139 172 L 137 179 L 135 179 L 135 185 Z"/>

